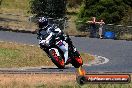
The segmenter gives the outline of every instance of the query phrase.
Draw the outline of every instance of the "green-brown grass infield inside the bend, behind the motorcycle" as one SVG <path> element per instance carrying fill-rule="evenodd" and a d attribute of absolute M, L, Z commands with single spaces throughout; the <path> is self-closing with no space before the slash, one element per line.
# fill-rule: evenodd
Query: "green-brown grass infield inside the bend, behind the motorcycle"
<path fill-rule="evenodd" d="M 84 63 L 94 60 L 87 53 L 81 53 L 81 56 Z M 46 53 L 37 46 L 0 42 L 0 68 L 53 65 Z"/>

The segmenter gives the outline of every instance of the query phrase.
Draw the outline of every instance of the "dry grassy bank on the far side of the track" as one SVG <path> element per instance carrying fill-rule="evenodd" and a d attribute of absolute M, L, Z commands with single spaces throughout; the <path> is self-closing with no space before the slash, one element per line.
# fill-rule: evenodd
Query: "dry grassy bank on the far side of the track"
<path fill-rule="evenodd" d="M 12 30 L 25 30 L 25 31 L 35 31 L 37 25 L 35 23 L 29 22 L 29 16 L 33 15 L 28 13 L 30 10 L 30 0 L 2 0 L 0 6 L 0 26 L 5 29 Z M 77 19 L 78 8 L 67 8 L 67 17 L 69 18 L 66 32 L 69 35 L 81 35 L 86 36 L 87 33 L 80 32 L 76 30 L 75 20 Z"/>

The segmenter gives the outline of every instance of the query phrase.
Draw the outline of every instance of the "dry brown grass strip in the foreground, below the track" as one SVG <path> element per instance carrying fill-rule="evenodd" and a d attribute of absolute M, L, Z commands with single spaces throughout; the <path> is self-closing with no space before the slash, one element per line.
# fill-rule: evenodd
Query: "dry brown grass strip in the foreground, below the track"
<path fill-rule="evenodd" d="M 132 83 L 80 86 L 75 79 L 74 74 L 1 74 L 0 88 L 132 88 Z"/>

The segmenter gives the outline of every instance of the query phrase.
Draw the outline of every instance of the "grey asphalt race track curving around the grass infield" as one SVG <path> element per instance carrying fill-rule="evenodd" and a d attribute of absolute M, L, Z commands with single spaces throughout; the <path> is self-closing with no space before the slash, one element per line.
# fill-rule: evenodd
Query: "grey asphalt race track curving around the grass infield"
<path fill-rule="evenodd" d="M 88 37 L 72 37 L 74 45 L 80 52 L 87 52 L 93 55 L 103 56 L 109 59 L 108 63 L 100 65 L 84 66 L 87 72 L 123 72 L 132 73 L 132 41 L 96 39 Z M 30 45 L 38 45 L 35 34 L 15 33 L 0 31 L 0 41 L 17 42 Z M 10 72 L 10 69 L 1 70 L 0 72 Z M 14 69 L 14 72 L 73 72 L 73 67 L 64 70 L 55 67 L 46 68 L 24 68 Z"/>

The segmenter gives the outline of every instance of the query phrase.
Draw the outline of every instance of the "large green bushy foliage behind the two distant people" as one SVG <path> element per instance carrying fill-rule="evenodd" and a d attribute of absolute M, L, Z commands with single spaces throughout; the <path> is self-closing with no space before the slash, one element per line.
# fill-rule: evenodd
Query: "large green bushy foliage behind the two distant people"
<path fill-rule="evenodd" d="M 129 0 L 126 3 L 131 5 Z M 128 10 L 128 4 L 122 0 L 84 0 L 80 7 L 79 19 L 90 19 L 95 16 L 103 19 L 106 23 L 118 23 L 122 20 Z"/>

